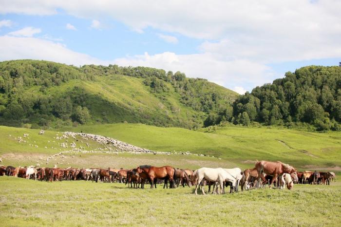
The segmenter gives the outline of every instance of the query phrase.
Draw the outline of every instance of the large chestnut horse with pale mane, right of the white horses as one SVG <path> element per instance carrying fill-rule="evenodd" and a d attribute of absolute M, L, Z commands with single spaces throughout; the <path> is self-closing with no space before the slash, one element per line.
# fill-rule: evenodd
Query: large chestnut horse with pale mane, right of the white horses
<path fill-rule="evenodd" d="M 271 180 L 271 183 L 269 184 L 269 187 L 271 187 L 272 183 L 275 180 L 277 180 L 278 176 L 282 177 L 283 173 L 291 174 L 292 172 L 296 172 L 296 169 L 294 167 L 288 164 L 284 164 L 280 161 L 277 161 L 277 162 L 259 161 L 259 162 L 256 162 L 256 169 L 258 171 L 258 184 L 259 185 L 262 185 L 261 174 L 263 172 L 267 175 L 272 176 L 272 180 Z"/>

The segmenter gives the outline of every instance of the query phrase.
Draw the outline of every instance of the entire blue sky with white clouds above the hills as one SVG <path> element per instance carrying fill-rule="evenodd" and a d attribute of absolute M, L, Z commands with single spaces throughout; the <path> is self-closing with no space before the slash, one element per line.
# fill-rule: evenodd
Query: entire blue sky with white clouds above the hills
<path fill-rule="evenodd" d="M 239 93 L 341 61 L 341 1 L 3 0 L 0 60 L 149 66 Z"/>

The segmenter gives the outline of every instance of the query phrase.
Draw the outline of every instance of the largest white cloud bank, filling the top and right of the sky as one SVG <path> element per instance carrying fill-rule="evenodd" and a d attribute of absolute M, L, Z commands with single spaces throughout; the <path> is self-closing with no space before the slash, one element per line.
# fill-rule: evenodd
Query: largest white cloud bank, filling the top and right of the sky
<path fill-rule="evenodd" d="M 62 9 L 84 19 L 114 19 L 132 30 L 180 34 L 204 41 L 196 55 L 133 56 L 122 64 L 181 70 L 229 88 L 272 80 L 266 64 L 341 57 L 340 0 L 2 0 L 0 14 L 52 15 Z M 98 20 L 92 28 L 100 29 Z M 160 37 L 161 38 L 161 37 Z M 175 39 L 174 39 L 175 40 Z M 214 40 L 214 41 L 213 41 Z"/>

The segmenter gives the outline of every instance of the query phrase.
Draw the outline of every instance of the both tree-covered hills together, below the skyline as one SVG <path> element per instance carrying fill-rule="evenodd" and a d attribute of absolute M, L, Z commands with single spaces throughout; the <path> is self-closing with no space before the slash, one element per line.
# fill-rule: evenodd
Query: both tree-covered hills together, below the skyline
<path fill-rule="evenodd" d="M 123 81 L 125 76 L 137 79 Z M 125 96 L 109 97 L 116 90 Z M 162 69 L 0 62 L 0 124 L 49 128 L 117 122 L 189 129 L 258 122 L 339 131 L 341 67 L 303 67 L 238 96 L 206 79 Z"/>

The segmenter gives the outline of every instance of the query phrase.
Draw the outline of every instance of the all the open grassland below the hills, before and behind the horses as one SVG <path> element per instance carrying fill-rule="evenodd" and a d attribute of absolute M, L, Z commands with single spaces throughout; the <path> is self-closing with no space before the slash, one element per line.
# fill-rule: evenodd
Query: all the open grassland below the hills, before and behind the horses
<path fill-rule="evenodd" d="M 66 130 L 109 136 L 173 154 L 70 153 L 63 158 L 54 157 L 46 164 L 47 156 L 70 150 L 60 148 L 62 142 L 76 142 L 77 148 L 87 142 L 89 151 L 104 149 L 103 145 L 82 141 L 80 137 L 56 140 Z M 340 132 L 236 126 L 190 131 L 142 124 L 88 125 L 46 131 L 44 135 L 38 132 L 0 126 L 2 164 L 40 163 L 48 167 L 57 164 L 76 168 L 135 168 L 149 164 L 190 169 L 245 169 L 254 166 L 255 160 L 265 159 L 281 160 L 299 170 L 333 170 L 340 174 Z M 23 133 L 29 136 L 23 138 Z M 19 136 L 26 142 L 19 143 Z M 142 190 L 117 183 L 49 183 L 7 176 L 0 177 L 0 185 L 0 226 L 340 226 L 341 221 L 339 181 L 330 186 L 295 185 L 292 191 L 266 188 L 205 196 L 195 196 L 193 187 L 149 189 L 147 186 L 148 189 Z"/>

